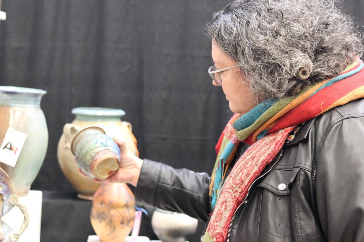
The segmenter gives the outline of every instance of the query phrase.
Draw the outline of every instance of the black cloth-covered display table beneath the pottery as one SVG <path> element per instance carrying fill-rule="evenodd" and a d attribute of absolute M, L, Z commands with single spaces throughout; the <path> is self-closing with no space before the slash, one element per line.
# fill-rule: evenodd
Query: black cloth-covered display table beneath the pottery
<path fill-rule="evenodd" d="M 89 235 L 95 235 L 90 221 L 91 206 L 92 201 L 78 198 L 76 192 L 43 190 L 40 241 L 86 242 Z M 151 227 L 154 209 L 145 209 L 149 212 L 149 216 L 143 214 L 139 235 L 146 236 L 151 241 L 157 240 Z M 186 239 L 199 241 L 204 226 L 204 223 L 199 223 L 195 235 Z"/>

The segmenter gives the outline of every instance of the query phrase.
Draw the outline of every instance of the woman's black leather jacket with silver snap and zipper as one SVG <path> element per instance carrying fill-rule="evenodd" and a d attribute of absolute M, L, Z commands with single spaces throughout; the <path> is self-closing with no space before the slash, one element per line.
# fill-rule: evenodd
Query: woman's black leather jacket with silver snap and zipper
<path fill-rule="evenodd" d="M 280 154 L 237 212 L 230 241 L 364 241 L 364 99 L 307 121 Z M 207 221 L 209 182 L 144 160 L 135 198 Z"/>

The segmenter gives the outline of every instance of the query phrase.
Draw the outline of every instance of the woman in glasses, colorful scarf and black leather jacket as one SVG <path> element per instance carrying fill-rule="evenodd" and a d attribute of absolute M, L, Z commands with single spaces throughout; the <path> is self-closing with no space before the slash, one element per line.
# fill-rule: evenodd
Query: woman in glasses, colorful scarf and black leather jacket
<path fill-rule="evenodd" d="M 213 85 L 235 113 L 212 176 L 120 146 L 108 182 L 206 221 L 212 241 L 364 241 L 360 34 L 333 0 L 235 0 L 214 14 Z"/>

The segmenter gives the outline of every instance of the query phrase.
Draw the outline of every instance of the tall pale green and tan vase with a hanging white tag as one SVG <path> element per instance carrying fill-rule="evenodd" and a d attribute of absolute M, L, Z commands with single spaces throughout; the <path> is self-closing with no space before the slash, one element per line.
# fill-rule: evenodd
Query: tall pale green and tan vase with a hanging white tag
<path fill-rule="evenodd" d="M 46 156 L 48 129 L 40 108 L 40 101 L 46 93 L 39 89 L 0 86 L 0 145 L 8 128 L 26 134 L 15 167 L 0 163 L 19 196 L 28 194 Z"/>

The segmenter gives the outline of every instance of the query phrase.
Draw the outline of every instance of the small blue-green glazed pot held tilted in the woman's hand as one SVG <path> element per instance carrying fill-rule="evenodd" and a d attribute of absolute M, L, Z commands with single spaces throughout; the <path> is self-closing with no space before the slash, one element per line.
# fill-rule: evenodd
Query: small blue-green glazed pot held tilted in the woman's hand
<path fill-rule="evenodd" d="M 105 180 L 119 169 L 119 146 L 100 127 L 88 126 L 78 131 L 71 151 L 78 167 L 90 177 Z"/>

